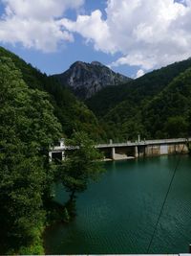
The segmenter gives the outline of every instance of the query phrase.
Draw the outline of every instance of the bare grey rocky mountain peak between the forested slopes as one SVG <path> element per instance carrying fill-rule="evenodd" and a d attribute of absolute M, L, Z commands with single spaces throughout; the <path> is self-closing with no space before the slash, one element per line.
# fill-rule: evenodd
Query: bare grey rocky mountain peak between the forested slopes
<path fill-rule="evenodd" d="M 61 84 L 70 86 L 74 94 L 82 100 L 90 98 L 106 86 L 131 81 L 98 61 L 76 61 L 66 72 L 53 77 Z"/>

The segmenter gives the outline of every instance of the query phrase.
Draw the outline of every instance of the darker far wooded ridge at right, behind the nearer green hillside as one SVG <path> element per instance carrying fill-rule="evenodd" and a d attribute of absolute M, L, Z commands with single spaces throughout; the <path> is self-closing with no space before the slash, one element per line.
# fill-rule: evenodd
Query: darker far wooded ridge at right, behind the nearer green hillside
<path fill-rule="evenodd" d="M 144 101 L 152 99 L 157 95 L 170 81 L 191 67 L 191 59 L 186 59 L 180 62 L 175 62 L 159 70 L 148 73 L 135 81 L 129 81 L 127 84 L 118 86 L 109 86 L 103 88 L 85 103 L 97 116 L 103 116 L 116 108 L 128 112 L 130 105 L 136 107 Z M 126 103 L 122 103 L 122 102 Z M 121 104 L 122 103 L 122 104 Z M 122 106 L 124 105 L 124 107 Z M 125 110 L 126 109 L 126 110 Z M 111 114 L 112 115 L 112 114 Z M 118 110 L 120 115 L 120 110 Z"/>

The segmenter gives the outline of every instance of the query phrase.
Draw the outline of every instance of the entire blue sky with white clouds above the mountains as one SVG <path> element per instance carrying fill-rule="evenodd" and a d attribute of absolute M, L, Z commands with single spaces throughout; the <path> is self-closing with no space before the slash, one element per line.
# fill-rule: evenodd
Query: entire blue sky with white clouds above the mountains
<path fill-rule="evenodd" d="M 0 45 L 48 75 L 96 60 L 138 78 L 191 57 L 191 0 L 0 0 Z"/>

